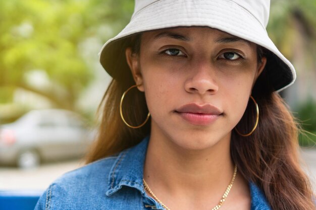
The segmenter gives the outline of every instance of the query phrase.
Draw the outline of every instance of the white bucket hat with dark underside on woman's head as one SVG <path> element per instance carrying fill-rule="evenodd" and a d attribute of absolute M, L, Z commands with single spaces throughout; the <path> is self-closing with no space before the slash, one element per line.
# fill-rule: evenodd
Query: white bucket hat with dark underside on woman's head
<path fill-rule="evenodd" d="M 249 40 L 270 50 L 265 71 L 275 90 L 295 81 L 295 69 L 267 34 L 270 0 L 135 0 L 129 24 L 107 41 L 100 62 L 113 77 L 127 75 L 126 39 L 130 35 L 171 27 L 207 26 Z M 124 63 L 122 63 L 124 62 Z M 130 73 L 128 73 L 130 74 Z"/>

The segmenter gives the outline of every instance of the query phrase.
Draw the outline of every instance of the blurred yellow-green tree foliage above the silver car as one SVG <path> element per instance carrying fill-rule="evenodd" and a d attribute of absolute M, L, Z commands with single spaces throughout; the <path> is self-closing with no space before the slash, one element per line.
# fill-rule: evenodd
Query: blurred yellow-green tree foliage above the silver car
<path fill-rule="evenodd" d="M 96 37 L 105 42 L 129 20 L 133 1 L 0 1 L 0 103 L 22 88 L 47 98 L 54 107 L 75 109 L 80 92 L 93 79 L 79 46 Z M 97 56 L 97 55 L 95 55 Z M 44 72 L 49 85 L 29 81 Z"/>

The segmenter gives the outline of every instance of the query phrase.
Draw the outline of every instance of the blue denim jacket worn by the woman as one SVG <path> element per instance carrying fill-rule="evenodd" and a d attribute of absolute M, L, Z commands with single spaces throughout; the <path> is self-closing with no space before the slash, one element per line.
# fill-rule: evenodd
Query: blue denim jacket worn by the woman
<path fill-rule="evenodd" d="M 37 202 L 36 210 L 164 209 L 143 186 L 148 137 L 117 156 L 88 164 L 52 183 Z M 251 210 L 271 210 L 264 194 L 249 183 Z"/>

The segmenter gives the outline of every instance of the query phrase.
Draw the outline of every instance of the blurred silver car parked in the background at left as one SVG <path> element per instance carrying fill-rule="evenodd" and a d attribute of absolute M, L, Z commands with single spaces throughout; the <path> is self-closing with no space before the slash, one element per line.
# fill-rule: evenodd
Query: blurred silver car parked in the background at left
<path fill-rule="evenodd" d="M 77 114 L 60 109 L 34 110 L 0 125 L 0 163 L 21 168 L 42 161 L 83 157 L 95 136 Z"/>

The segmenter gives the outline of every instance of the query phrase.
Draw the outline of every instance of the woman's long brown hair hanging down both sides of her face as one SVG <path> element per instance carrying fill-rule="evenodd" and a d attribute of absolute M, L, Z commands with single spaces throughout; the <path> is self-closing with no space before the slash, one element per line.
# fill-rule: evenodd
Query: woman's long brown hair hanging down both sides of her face
<path fill-rule="evenodd" d="M 126 47 L 131 46 L 133 52 L 138 53 L 139 42 L 140 35 L 127 39 Z M 257 54 L 258 60 L 262 56 L 270 59 L 269 52 L 264 54 L 261 47 L 258 47 Z M 126 75 L 112 80 L 102 99 L 99 106 L 99 112 L 102 112 L 99 135 L 87 155 L 87 163 L 130 148 L 150 133 L 149 121 L 143 127 L 133 129 L 127 127 L 120 117 L 121 96 L 135 83 L 125 62 L 119 68 L 124 69 Z M 148 113 L 144 94 L 131 91 L 128 95 L 124 99 L 125 119 L 131 124 L 140 124 Z M 311 184 L 299 164 L 298 126 L 280 95 L 269 83 L 265 71 L 256 81 L 252 96 L 260 110 L 256 130 L 247 137 L 232 131 L 231 154 L 240 173 L 264 191 L 274 210 L 315 209 Z M 250 100 L 237 125 L 242 133 L 249 132 L 249 127 L 254 124 L 255 111 L 251 107 L 253 104 Z"/>

